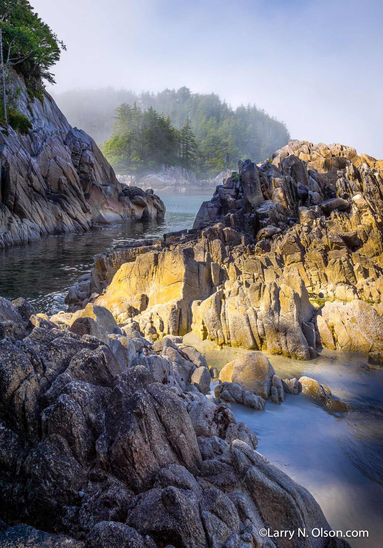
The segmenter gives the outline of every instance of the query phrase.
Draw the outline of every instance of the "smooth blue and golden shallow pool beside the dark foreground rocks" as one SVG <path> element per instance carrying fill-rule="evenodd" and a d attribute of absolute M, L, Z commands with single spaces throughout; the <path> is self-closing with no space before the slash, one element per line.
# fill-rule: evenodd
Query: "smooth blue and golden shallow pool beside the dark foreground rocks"
<path fill-rule="evenodd" d="M 221 369 L 247 350 L 200 341 L 188 333 L 185 344 Z M 365 355 L 323 350 L 308 362 L 267 355 L 281 378 L 310 376 L 351 404 L 334 413 L 315 399 L 286 395 L 263 410 L 232 404 L 236 419 L 258 437 L 257 450 L 306 487 L 334 530 L 368 530 L 369 538 L 347 539 L 353 548 L 383 546 L 383 371 Z M 216 383 L 211 383 L 211 390 Z"/>

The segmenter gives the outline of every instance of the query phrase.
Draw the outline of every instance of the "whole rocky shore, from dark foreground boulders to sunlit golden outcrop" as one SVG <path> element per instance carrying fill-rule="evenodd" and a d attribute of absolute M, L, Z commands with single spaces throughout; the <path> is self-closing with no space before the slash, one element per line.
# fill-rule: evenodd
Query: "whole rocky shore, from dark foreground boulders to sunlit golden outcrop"
<path fill-rule="evenodd" d="M 193 229 L 95 256 L 68 311 L 1 299 L 2 545 L 349 546 L 261 536 L 331 528 L 228 402 L 302 391 L 347 412 L 328 386 L 279 378 L 263 352 L 383 358 L 381 168 L 290 141 L 240 162 Z M 251 352 L 218 373 L 184 344 L 190 330 Z"/>

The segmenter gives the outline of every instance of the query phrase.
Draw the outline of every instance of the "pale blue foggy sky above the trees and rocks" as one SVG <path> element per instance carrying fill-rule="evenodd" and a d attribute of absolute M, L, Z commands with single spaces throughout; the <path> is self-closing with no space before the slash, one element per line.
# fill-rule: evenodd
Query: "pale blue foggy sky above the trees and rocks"
<path fill-rule="evenodd" d="M 186 85 L 233 107 L 255 103 L 292 139 L 383 158 L 381 0 L 31 4 L 67 48 L 49 92 Z"/>

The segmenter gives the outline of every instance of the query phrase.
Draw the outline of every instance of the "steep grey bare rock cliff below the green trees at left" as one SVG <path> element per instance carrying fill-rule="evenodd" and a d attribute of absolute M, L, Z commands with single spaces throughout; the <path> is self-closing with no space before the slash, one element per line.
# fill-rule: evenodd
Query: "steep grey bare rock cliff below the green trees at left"
<path fill-rule="evenodd" d="M 117 181 L 93 139 L 72 128 L 47 93 L 43 103 L 29 102 L 24 79 L 14 74 L 13 85 L 21 89 L 19 111 L 32 129 L 0 133 L 0 248 L 93 224 L 164 216 L 153 191 L 137 189 L 129 198 L 132 190 Z"/>

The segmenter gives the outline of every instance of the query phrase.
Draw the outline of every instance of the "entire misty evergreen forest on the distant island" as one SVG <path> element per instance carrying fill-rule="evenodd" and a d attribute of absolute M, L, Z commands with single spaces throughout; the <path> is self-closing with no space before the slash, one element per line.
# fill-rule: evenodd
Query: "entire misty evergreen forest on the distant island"
<path fill-rule="evenodd" d="M 187 87 L 157 94 L 126 90 L 69 90 L 55 95 L 69 122 L 102 145 L 117 173 L 179 164 L 200 177 L 260 162 L 290 139 L 283 122 L 256 105 L 233 109 L 215 93 Z"/>

